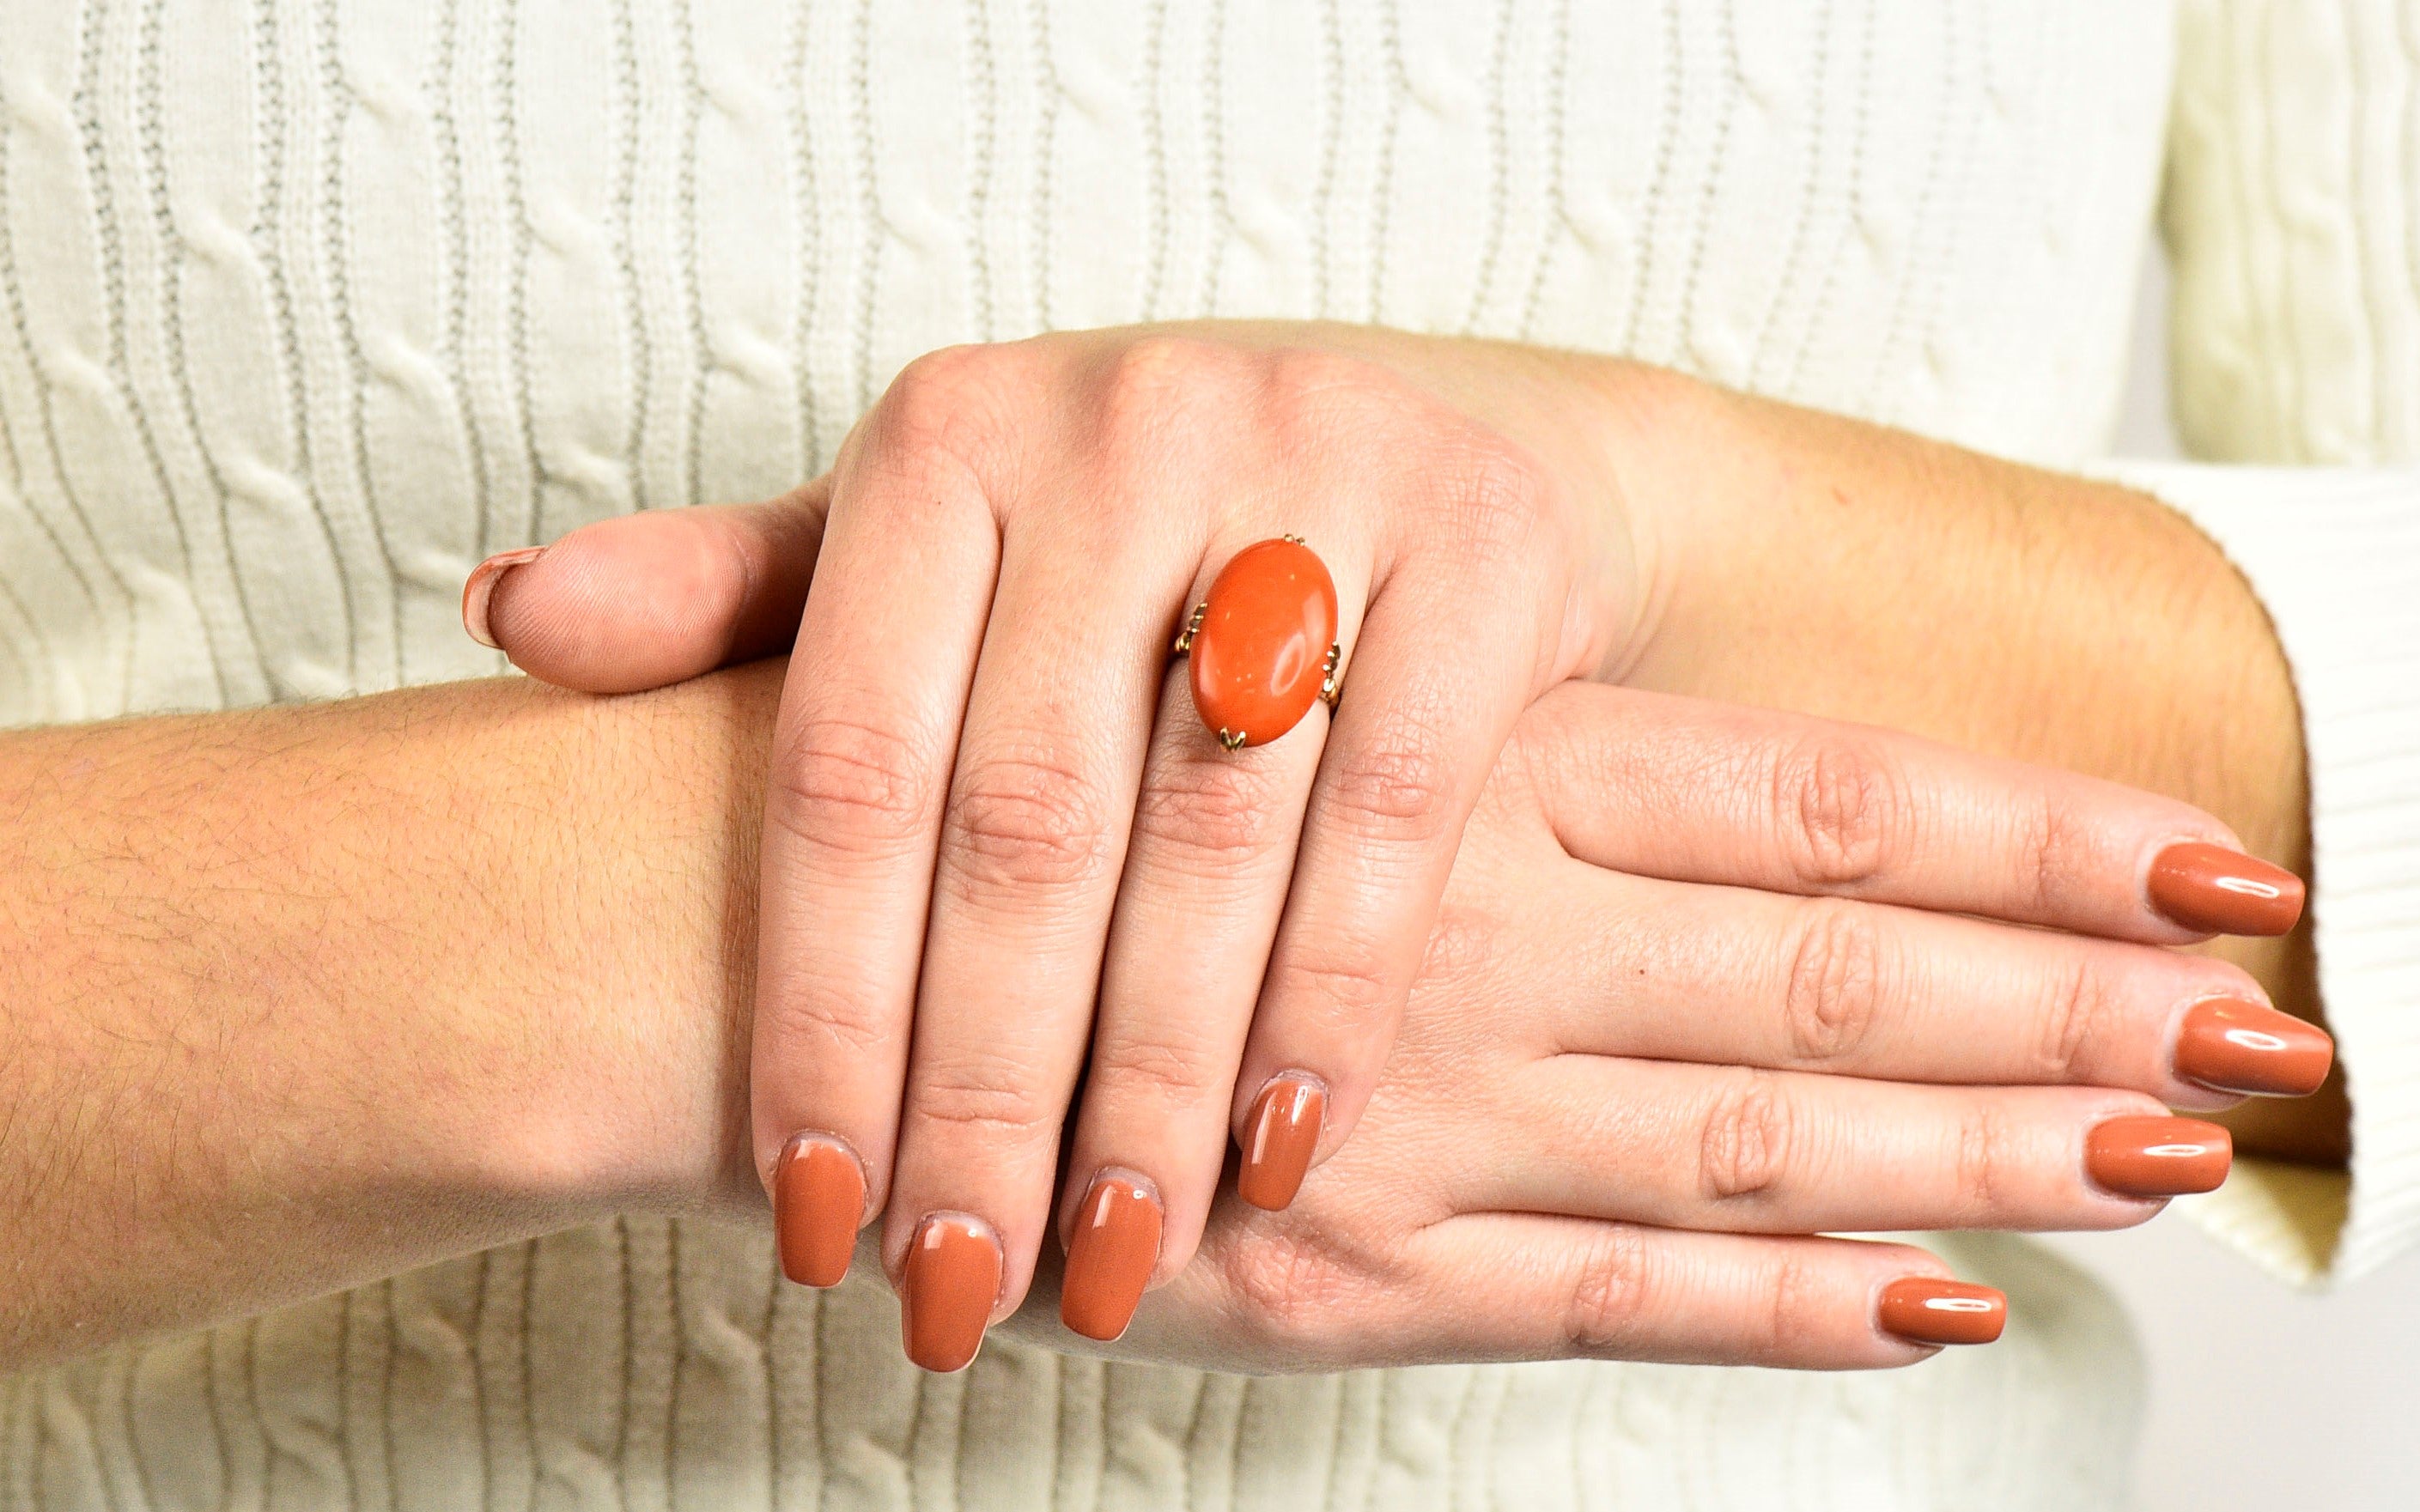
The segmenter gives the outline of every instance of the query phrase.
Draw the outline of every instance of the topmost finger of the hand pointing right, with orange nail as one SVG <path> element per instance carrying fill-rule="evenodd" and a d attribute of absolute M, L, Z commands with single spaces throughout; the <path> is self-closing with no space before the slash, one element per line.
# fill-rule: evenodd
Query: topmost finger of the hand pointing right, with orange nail
<path fill-rule="evenodd" d="M 1568 682 L 1515 735 L 1580 861 L 2147 943 L 2287 934 L 2304 883 L 2219 820 L 1919 735 Z"/>

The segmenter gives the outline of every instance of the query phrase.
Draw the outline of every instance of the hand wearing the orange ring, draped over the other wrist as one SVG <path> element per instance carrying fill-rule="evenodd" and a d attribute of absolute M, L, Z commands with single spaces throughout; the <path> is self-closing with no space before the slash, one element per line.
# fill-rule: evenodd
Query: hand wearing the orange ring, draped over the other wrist
<path fill-rule="evenodd" d="M 474 576 L 474 634 L 600 692 L 777 644 L 813 576 L 753 1043 L 794 1277 L 840 1280 L 888 1205 L 912 1309 L 939 1306 L 912 1243 L 1014 1306 L 1087 1043 L 1062 1236 L 1094 1176 L 1123 1181 L 1174 1272 L 1229 1132 L 1268 1207 L 1346 1139 L 1505 733 L 1636 612 L 1556 363 L 1326 327 L 953 348 L 794 508 L 615 520 Z M 1333 573 L 1348 694 L 1333 728 L 1229 752 L 1169 641 L 1285 532 Z M 653 602 L 663 641 L 600 636 L 564 607 L 583 593 L 622 622 L 615 598 Z"/>

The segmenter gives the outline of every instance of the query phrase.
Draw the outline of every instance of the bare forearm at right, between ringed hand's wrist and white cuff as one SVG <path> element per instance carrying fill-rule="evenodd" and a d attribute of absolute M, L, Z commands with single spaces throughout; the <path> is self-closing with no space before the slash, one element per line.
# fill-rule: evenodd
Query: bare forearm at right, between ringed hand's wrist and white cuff
<path fill-rule="evenodd" d="M 2018 467 L 1667 373 L 1602 368 L 1655 556 L 1626 682 L 1800 709 L 2173 793 L 2309 873 L 2301 721 L 2260 602 L 2193 525 Z M 2219 941 L 2318 1018 L 2306 929 Z M 2248 1147 L 2340 1159 L 2343 1103 L 2253 1103 Z"/>

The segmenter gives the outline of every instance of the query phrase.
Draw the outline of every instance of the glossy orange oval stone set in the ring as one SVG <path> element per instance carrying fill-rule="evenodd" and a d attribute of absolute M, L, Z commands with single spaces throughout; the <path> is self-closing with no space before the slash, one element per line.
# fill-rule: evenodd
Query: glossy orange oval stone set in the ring
<path fill-rule="evenodd" d="M 1193 706 L 1222 745 L 1263 745 L 1319 702 L 1336 644 L 1336 583 L 1292 539 L 1234 554 L 1203 598 L 1193 631 Z"/>

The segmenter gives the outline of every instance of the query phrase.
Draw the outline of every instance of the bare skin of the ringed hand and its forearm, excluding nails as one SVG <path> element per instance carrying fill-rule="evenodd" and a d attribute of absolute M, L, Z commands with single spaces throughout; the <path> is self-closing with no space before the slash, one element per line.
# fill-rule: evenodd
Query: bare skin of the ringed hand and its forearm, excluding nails
<path fill-rule="evenodd" d="M 1176 419 L 1198 414 L 1241 423 Z M 968 452 L 983 464 L 961 464 Z M 1467 455 L 1483 464 L 1457 464 Z M 859 481 L 869 457 L 883 477 L 946 474 L 975 498 L 903 510 L 898 489 Z M 869 494 L 859 508 L 891 523 L 883 552 L 818 559 L 823 520 Z M 1474 515 L 1474 496 L 1491 513 Z M 1162 539 L 1171 518 L 1176 547 Z M 1152 614 L 1171 619 L 1225 554 L 1285 527 L 1316 535 L 1338 569 L 1350 728 L 1326 733 L 1314 711 L 1297 735 L 1229 757 L 1198 728 L 1181 675 L 1157 665 Z M 1062 1239 L 1089 1173 L 1140 1171 L 1169 1207 L 1164 1272 L 1181 1268 L 1222 1135 L 1287 1067 L 1329 1081 L 1321 1159 L 1341 1147 L 1387 1048 L 1462 793 L 1500 740 L 1500 704 L 1539 675 L 1859 719 L 2113 777 L 2200 803 L 2253 854 L 2309 871 L 2284 656 L 2241 576 L 2173 510 L 1672 373 L 1508 344 L 1208 322 L 956 348 L 912 365 L 835 472 L 799 496 L 702 513 L 695 527 L 612 520 L 515 569 L 496 590 L 496 634 L 542 677 L 649 687 L 782 646 L 803 600 L 816 656 L 888 668 L 895 646 L 929 634 L 915 583 L 946 578 L 903 549 L 920 530 L 992 542 L 961 547 L 973 552 L 963 571 L 980 561 L 999 576 L 980 704 L 1012 723 L 1031 716 L 1019 769 L 1072 781 L 1038 779 L 992 803 L 980 750 L 961 743 L 958 774 L 944 777 L 937 743 L 893 760 L 912 743 L 883 735 L 832 762 L 847 781 L 806 784 L 816 823 L 774 832 L 869 832 L 859 849 L 881 859 L 888 890 L 862 905 L 869 888 L 849 868 L 799 890 L 786 852 L 770 856 L 784 943 L 767 946 L 767 1002 L 796 985 L 820 1006 L 760 1023 L 757 1161 L 770 1171 L 789 1132 L 830 1130 L 842 1108 L 869 1214 L 891 1202 L 891 1265 L 924 1212 L 975 1212 L 1007 1241 L 1012 1299 L 1041 1248 L 1038 1205 L 1087 1040 Z M 1021 571 L 1048 581 L 1016 590 L 1019 535 L 1079 542 L 1074 566 L 1028 552 Z M 1137 561 L 1174 549 L 1193 576 L 1154 578 L 1120 549 Z M 1452 571 L 1430 573 L 1447 559 Z M 682 564 L 680 593 L 658 590 L 661 561 Z M 835 566 L 832 595 L 808 595 Z M 1370 622 L 1355 631 L 1362 602 Z M 1111 619 L 1072 629 L 1067 614 Z M 847 677 L 883 687 L 864 699 L 818 682 L 813 719 L 905 728 L 883 711 L 898 697 L 888 675 Z M 786 733 L 777 772 L 799 757 Z M 1372 781 L 1382 772 L 1418 779 Z M 915 825 L 854 801 L 869 774 L 871 791 L 922 793 L 905 803 Z M 934 796 L 949 784 L 961 801 Z M 1338 791 L 1362 803 L 1336 803 Z M 1392 818 L 1375 815 L 1372 793 Z M 1070 856 L 1082 866 L 1060 866 Z M 985 861 L 980 885 L 970 859 Z M 983 900 L 980 927 L 966 922 L 968 898 Z M 910 917 L 934 951 L 920 992 L 915 929 L 883 927 Z M 888 941 L 888 965 L 871 970 L 862 953 L 796 965 L 832 939 Z M 1353 956 L 1333 956 L 1336 941 Z M 2212 948 L 2321 1018 L 2309 927 Z M 1014 963 L 1007 985 L 1002 963 Z M 1019 1026 L 1007 1050 L 999 1023 Z M 811 1067 L 832 1064 L 864 1081 L 818 1086 Z M 908 1176 L 893 1200 L 883 1173 L 900 1089 Z M 2340 1081 L 2229 1123 L 2246 1149 L 2347 1156 Z"/>

